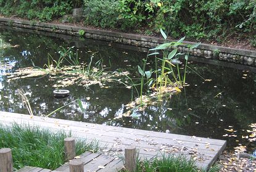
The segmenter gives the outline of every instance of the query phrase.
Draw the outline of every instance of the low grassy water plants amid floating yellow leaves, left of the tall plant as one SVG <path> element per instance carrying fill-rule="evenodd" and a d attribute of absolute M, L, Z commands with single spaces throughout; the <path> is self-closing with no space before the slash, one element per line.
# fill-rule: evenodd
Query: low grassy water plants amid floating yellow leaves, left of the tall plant
<path fill-rule="evenodd" d="M 88 87 L 92 84 L 102 86 L 105 82 L 122 82 L 117 78 L 128 75 L 128 72 L 109 72 L 102 67 L 102 60 L 93 63 L 94 52 L 88 64 L 81 63 L 78 52 L 73 52 L 73 47 L 59 51 L 60 57 L 55 60 L 48 54 L 48 62 L 43 68 L 27 67 L 20 68 L 14 73 L 7 74 L 10 80 L 20 78 L 37 78 L 49 76 L 49 80 L 55 81 L 54 88 L 64 88 L 73 84 Z"/>

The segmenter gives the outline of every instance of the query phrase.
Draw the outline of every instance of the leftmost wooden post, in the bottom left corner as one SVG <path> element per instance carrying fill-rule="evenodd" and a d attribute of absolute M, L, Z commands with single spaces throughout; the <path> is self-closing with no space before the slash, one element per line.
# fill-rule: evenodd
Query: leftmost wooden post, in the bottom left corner
<path fill-rule="evenodd" d="M 10 150 L 9 148 L 0 149 L 0 171 L 14 171 L 14 168 L 12 166 L 12 150 Z"/>

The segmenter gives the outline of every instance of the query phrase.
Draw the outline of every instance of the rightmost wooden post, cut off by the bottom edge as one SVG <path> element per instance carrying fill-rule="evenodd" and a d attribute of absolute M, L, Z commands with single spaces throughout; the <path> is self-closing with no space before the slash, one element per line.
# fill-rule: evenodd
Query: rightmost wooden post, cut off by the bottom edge
<path fill-rule="evenodd" d="M 129 172 L 136 171 L 136 147 L 134 146 L 125 149 L 125 168 Z"/>

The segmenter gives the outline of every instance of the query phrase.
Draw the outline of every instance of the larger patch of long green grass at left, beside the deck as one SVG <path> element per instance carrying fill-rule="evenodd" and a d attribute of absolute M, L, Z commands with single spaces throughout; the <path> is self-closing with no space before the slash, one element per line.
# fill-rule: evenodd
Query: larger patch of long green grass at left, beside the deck
<path fill-rule="evenodd" d="M 0 125 L 0 147 L 12 149 L 14 168 L 38 166 L 55 170 L 64 164 L 64 139 L 71 133 L 53 133 L 38 126 Z M 97 151 L 97 142 L 86 143 L 76 139 L 76 155 L 86 150 Z"/>

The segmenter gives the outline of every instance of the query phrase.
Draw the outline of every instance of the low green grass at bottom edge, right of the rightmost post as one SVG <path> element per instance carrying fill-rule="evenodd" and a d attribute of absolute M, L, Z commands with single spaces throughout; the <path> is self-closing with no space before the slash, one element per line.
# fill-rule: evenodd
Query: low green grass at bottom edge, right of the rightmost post
<path fill-rule="evenodd" d="M 213 166 L 209 172 L 220 170 L 220 166 Z M 182 155 L 177 157 L 173 155 L 162 155 L 161 158 L 152 158 L 152 160 L 137 160 L 137 172 L 206 172 L 207 170 L 199 170 L 194 160 L 187 160 Z"/>

